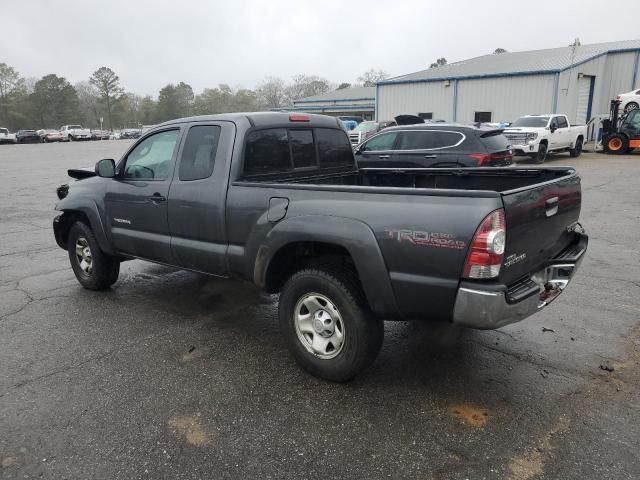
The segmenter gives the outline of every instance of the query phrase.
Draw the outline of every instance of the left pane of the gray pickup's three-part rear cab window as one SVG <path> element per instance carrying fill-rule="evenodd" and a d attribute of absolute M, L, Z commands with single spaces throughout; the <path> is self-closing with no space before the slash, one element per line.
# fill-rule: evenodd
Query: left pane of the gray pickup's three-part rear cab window
<path fill-rule="evenodd" d="M 258 130 L 247 136 L 247 149 L 244 154 L 246 175 L 287 170 L 291 170 L 291 157 L 286 128 Z"/>

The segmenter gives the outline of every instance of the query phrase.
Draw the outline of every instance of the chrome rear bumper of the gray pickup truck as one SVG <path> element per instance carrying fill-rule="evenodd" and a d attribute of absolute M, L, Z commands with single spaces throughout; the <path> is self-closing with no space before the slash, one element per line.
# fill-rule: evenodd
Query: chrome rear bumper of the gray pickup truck
<path fill-rule="evenodd" d="M 549 305 L 567 287 L 587 251 L 589 237 L 576 235 L 576 243 L 510 288 L 490 290 L 463 283 L 456 296 L 453 323 L 491 330 L 524 320 Z"/>

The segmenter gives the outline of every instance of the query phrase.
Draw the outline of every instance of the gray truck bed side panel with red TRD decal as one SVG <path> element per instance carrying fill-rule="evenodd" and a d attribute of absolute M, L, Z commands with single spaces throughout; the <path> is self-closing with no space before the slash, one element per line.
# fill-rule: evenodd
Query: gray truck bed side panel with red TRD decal
<path fill-rule="evenodd" d="M 322 218 L 327 229 L 333 228 L 334 236 L 339 236 L 344 219 L 366 225 L 377 245 L 361 245 L 366 240 L 351 238 L 344 230 L 343 246 L 350 252 L 379 248 L 385 267 L 379 276 L 390 279 L 400 317 L 432 320 L 450 320 L 469 242 L 482 219 L 502 206 L 498 195 L 404 195 L 236 182 L 227 196 L 228 215 L 233 216 L 227 222 L 229 267 L 247 278 L 251 278 L 260 245 L 276 225 L 267 218 L 272 197 L 289 199 L 282 222 L 296 217 L 306 217 L 305 222 Z M 327 218 L 334 222 L 327 222 Z M 364 261 L 368 261 L 366 257 Z M 370 261 L 375 261 L 373 255 Z M 356 268 L 363 270 L 357 262 Z M 386 280 L 361 278 L 363 283 Z"/>

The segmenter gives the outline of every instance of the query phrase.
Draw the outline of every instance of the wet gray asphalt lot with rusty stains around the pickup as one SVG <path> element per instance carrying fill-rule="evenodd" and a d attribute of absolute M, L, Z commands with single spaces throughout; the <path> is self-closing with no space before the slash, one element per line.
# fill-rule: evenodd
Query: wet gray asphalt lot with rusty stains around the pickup
<path fill-rule="evenodd" d="M 251 284 L 131 261 L 78 285 L 55 188 L 128 145 L 0 146 L 0 478 L 640 478 L 640 154 L 550 159 L 579 169 L 590 235 L 551 306 L 387 322 L 340 385 L 296 366 Z"/>

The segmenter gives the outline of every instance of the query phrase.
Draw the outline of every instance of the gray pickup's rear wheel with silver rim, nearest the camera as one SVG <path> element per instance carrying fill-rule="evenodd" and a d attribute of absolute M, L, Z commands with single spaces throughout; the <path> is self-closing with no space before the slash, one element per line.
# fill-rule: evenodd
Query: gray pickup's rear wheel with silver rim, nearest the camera
<path fill-rule="evenodd" d="M 320 378 L 346 382 L 375 360 L 384 322 L 367 306 L 355 273 L 306 269 L 280 294 L 280 328 L 298 364 Z"/>

